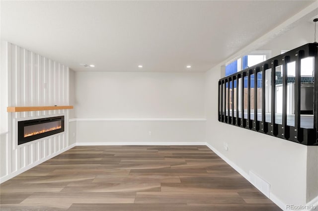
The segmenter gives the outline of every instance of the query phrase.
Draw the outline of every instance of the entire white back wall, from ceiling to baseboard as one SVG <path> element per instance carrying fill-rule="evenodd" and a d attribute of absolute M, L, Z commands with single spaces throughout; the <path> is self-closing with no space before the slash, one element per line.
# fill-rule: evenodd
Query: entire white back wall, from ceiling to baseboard
<path fill-rule="evenodd" d="M 75 90 L 78 143 L 205 139 L 204 73 L 76 72 Z"/>

